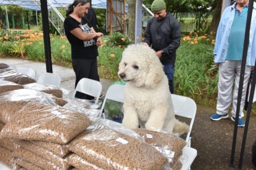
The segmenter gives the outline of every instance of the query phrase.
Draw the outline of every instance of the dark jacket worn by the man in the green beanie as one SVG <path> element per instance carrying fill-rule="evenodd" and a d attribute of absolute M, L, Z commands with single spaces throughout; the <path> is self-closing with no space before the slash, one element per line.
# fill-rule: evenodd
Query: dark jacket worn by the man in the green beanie
<path fill-rule="evenodd" d="M 152 48 L 157 52 L 163 50 L 160 61 L 165 63 L 175 63 L 176 49 L 180 45 L 180 24 L 174 16 L 167 12 L 166 17 L 157 20 L 151 18 L 144 33 L 144 42 L 152 44 Z"/>

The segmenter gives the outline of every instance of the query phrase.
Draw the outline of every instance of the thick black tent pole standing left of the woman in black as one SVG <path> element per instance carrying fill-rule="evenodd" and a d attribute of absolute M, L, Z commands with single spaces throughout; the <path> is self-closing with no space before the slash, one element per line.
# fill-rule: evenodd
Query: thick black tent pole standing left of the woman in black
<path fill-rule="evenodd" d="M 52 73 L 52 57 L 51 57 L 51 41 L 49 37 L 49 19 L 48 19 L 48 8 L 47 1 L 40 0 L 41 12 L 42 12 L 42 24 L 43 24 L 43 35 L 44 35 L 44 53 L 46 54 L 46 71 Z"/>

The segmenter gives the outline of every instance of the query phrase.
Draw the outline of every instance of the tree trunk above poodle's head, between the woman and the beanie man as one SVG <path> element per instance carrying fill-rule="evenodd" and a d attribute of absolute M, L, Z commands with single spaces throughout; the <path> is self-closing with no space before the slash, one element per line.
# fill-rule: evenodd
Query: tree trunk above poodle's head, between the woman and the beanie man
<path fill-rule="evenodd" d="M 135 17 L 136 17 L 136 0 L 127 0 L 126 1 L 129 8 L 129 18 L 128 18 L 128 33 L 132 40 L 135 37 Z"/>

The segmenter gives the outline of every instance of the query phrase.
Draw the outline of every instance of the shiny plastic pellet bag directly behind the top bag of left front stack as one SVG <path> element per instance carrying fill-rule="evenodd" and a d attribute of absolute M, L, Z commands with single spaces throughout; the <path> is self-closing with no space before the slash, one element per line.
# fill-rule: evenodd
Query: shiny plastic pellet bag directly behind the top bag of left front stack
<path fill-rule="evenodd" d="M 67 103 L 63 99 L 31 89 L 4 92 L 0 94 L 0 121 L 6 124 L 29 101 L 39 101 L 51 105 Z"/>

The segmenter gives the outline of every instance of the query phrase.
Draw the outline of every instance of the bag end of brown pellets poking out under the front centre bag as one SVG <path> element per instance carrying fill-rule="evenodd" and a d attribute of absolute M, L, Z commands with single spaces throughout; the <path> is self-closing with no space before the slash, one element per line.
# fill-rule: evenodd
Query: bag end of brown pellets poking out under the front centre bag
<path fill-rule="evenodd" d="M 77 169 L 104 170 L 76 154 L 69 155 L 67 157 L 67 162 L 68 162 L 68 164 L 71 164 L 73 167 L 76 167 Z"/>

